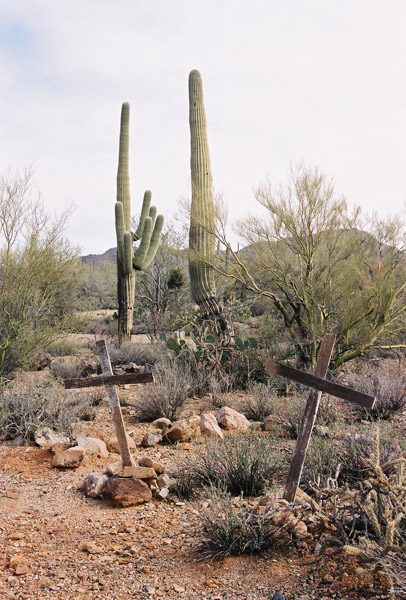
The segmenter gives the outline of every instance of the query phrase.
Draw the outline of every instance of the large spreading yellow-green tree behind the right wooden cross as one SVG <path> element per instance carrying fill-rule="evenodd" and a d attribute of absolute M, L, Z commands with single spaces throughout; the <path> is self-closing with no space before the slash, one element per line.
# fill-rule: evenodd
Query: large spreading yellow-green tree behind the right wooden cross
<path fill-rule="evenodd" d="M 298 364 L 315 364 L 326 332 L 337 336 L 333 368 L 393 347 L 405 330 L 404 223 L 350 214 L 333 182 L 303 165 L 287 185 L 259 187 L 256 198 L 265 214 L 238 224 L 248 246 L 233 252 L 219 230 L 232 260 L 228 272 L 215 268 L 272 301 Z"/>

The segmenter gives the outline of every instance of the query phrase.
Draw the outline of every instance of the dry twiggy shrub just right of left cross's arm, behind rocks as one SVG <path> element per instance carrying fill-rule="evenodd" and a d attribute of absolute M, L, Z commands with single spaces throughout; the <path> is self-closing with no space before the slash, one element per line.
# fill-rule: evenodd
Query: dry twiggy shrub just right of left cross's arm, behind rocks
<path fill-rule="evenodd" d="M 139 421 L 153 421 L 159 417 L 176 420 L 186 400 L 193 394 L 194 380 L 190 370 L 176 363 L 162 363 L 154 371 L 155 384 L 141 391 L 135 405 Z"/>

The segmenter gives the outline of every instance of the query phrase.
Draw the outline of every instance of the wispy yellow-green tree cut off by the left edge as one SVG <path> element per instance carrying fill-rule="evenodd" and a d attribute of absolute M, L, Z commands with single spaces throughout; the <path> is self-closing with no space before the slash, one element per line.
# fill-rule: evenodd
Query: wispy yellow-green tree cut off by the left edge
<path fill-rule="evenodd" d="M 81 325 L 77 253 L 63 237 L 68 216 L 45 213 L 30 171 L 0 177 L 0 376 L 35 366 L 51 342 Z"/>

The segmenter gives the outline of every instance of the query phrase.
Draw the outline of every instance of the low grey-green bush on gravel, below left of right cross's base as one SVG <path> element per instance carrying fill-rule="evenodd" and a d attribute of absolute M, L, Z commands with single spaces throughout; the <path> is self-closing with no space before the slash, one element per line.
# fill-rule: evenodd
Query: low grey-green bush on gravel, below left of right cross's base
<path fill-rule="evenodd" d="M 214 560 L 226 556 L 262 553 L 273 547 L 267 520 L 263 515 L 250 519 L 244 510 L 242 498 L 237 502 L 222 490 L 212 488 L 211 503 L 201 516 L 203 541 L 200 546 L 202 558 Z"/>

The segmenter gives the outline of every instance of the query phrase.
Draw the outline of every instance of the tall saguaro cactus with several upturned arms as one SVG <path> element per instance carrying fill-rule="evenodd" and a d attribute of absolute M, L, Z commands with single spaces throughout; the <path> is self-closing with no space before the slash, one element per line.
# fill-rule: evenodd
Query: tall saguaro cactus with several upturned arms
<path fill-rule="evenodd" d="M 146 191 L 141 216 L 135 232 L 131 231 L 131 198 L 128 166 L 130 105 L 121 108 L 120 148 L 117 172 L 115 221 L 117 236 L 117 295 L 119 344 L 131 339 L 134 316 L 135 272 L 144 271 L 158 249 L 164 218 L 151 206 L 151 192 Z M 133 243 L 140 240 L 137 249 Z"/>

